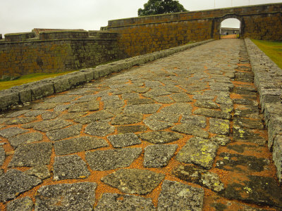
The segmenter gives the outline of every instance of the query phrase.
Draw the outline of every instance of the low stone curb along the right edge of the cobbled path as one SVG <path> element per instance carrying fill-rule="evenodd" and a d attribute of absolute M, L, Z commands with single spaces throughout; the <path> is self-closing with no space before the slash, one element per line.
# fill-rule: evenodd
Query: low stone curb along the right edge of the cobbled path
<path fill-rule="evenodd" d="M 250 39 L 245 39 L 245 44 L 268 129 L 269 150 L 282 182 L 282 70 Z"/>

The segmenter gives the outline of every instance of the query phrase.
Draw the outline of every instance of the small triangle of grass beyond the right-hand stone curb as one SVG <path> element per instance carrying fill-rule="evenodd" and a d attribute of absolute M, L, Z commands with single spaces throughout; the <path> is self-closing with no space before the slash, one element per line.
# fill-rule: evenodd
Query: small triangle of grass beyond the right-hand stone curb
<path fill-rule="evenodd" d="M 252 41 L 282 69 L 282 41 L 264 41 L 252 39 Z"/>

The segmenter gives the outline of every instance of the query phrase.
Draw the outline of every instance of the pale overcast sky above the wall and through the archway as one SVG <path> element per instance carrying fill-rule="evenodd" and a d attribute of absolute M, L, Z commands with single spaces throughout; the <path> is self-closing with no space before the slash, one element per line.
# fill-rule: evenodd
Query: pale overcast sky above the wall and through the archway
<path fill-rule="evenodd" d="M 137 17 L 148 0 L 0 0 L 0 34 L 33 28 L 99 30 L 108 20 Z M 179 0 L 188 11 L 214 8 L 214 0 Z M 215 8 L 282 0 L 215 0 Z M 227 20 L 226 20 L 227 22 Z M 239 27 L 231 21 L 223 27 Z"/>

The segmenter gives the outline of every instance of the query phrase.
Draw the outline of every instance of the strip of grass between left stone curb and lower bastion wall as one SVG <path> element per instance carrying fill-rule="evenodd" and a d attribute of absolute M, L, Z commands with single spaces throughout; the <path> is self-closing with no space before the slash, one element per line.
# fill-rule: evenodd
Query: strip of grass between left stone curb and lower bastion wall
<path fill-rule="evenodd" d="M 34 73 L 30 75 L 23 75 L 22 77 L 19 77 L 18 79 L 12 80 L 12 81 L 2 81 L 0 82 L 0 90 L 3 89 L 9 89 L 11 87 L 19 86 L 21 84 L 27 84 L 30 82 L 36 82 L 48 77 L 56 77 L 59 75 L 65 75 L 69 72 L 73 71 L 68 71 L 68 72 L 60 72 L 60 73 Z"/>

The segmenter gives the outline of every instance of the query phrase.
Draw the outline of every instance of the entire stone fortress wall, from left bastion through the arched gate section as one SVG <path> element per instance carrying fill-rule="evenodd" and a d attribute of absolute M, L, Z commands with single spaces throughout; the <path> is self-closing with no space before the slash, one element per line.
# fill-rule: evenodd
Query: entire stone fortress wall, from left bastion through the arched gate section
<path fill-rule="evenodd" d="M 241 38 L 282 40 L 281 11 L 282 4 L 264 4 L 110 20 L 102 31 L 0 35 L 0 78 L 91 68 L 189 41 L 220 39 L 226 18 L 240 20 Z"/>

